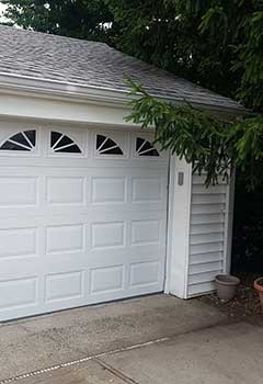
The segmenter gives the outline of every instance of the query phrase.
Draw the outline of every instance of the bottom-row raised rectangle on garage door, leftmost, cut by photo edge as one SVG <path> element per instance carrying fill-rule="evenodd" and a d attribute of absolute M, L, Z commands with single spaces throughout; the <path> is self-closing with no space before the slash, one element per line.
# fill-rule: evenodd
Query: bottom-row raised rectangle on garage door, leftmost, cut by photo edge
<path fill-rule="evenodd" d="M 36 304 L 36 278 L 0 281 L 0 309 Z"/>

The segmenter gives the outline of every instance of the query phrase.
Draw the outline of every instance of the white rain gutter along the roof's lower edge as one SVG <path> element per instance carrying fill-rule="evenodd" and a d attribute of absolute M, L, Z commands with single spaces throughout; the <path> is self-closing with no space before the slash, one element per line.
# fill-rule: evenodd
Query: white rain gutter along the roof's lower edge
<path fill-rule="evenodd" d="M 111 88 L 100 88 L 92 86 L 82 86 L 73 82 L 62 82 L 59 80 L 46 80 L 26 76 L 19 76 L 12 74 L 0 72 L 0 90 L 1 91 L 25 91 L 34 92 L 35 94 L 42 94 L 56 98 L 72 98 L 81 100 L 90 100 L 93 102 L 103 102 L 111 104 L 118 104 L 118 106 L 127 103 L 128 100 L 136 95 L 130 95 L 128 91 L 116 90 Z M 155 95 L 156 97 L 156 95 Z M 180 98 L 171 99 L 163 95 L 156 97 L 158 100 L 163 100 L 178 105 L 185 104 L 184 100 Z M 237 115 L 247 114 L 248 111 L 242 108 L 227 108 L 220 105 L 205 104 L 202 102 L 191 102 L 193 106 L 210 111 L 222 115 L 225 117 L 231 117 Z"/>

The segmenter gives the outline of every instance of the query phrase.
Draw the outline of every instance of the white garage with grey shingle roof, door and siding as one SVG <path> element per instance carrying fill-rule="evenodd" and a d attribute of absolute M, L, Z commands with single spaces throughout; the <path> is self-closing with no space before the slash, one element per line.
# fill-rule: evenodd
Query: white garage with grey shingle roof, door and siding
<path fill-rule="evenodd" d="M 218 118 L 236 101 L 103 43 L 0 25 L 0 323 L 164 292 L 230 270 L 233 185 L 127 121 L 127 76 Z M 125 77 L 124 77 L 125 75 Z"/>

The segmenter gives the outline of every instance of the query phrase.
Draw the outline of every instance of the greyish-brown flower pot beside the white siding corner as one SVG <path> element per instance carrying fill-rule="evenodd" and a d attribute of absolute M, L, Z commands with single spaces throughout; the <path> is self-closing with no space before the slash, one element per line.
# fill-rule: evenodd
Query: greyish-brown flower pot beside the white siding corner
<path fill-rule="evenodd" d="M 230 274 L 218 274 L 215 278 L 217 295 L 220 300 L 229 302 L 235 297 L 240 280 Z"/>

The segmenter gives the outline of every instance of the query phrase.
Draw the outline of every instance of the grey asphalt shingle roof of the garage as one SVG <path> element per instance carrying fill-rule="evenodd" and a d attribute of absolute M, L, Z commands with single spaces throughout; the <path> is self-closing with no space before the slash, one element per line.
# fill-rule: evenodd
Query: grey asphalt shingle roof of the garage
<path fill-rule="evenodd" d="M 236 101 L 160 70 L 103 43 L 0 25 L 0 75 L 127 91 L 124 74 L 153 95 L 242 110 Z"/>

